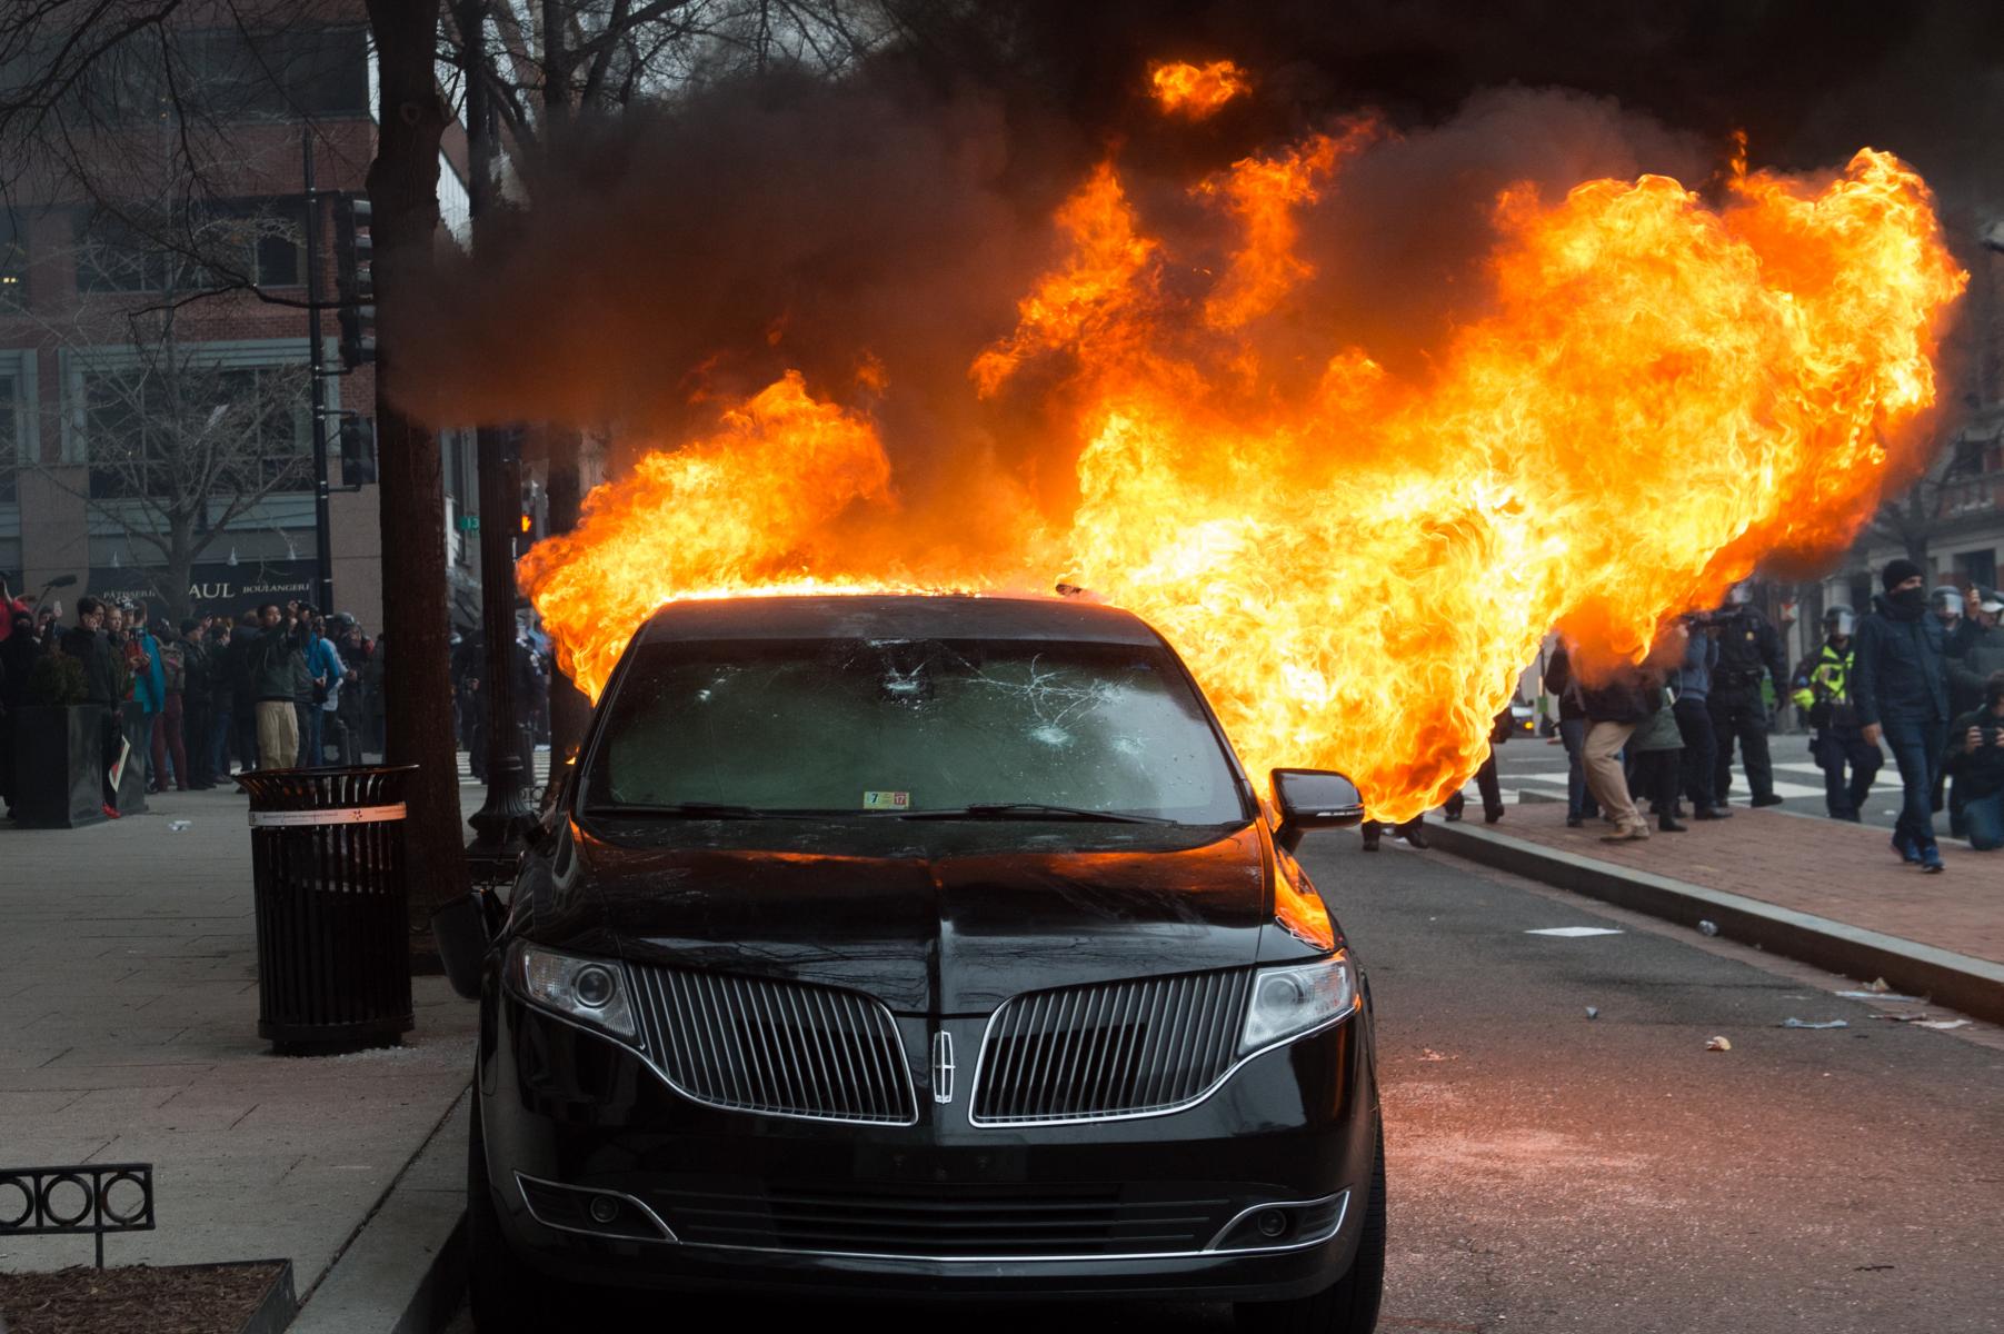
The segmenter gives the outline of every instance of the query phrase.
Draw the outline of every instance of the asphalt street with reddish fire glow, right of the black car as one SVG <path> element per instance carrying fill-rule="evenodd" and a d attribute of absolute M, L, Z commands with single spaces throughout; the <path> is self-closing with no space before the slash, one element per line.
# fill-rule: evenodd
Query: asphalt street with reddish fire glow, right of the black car
<path fill-rule="evenodd" d="M 1341 831 L 1305 857 L 1377 1002 L 1381 1330 L 2000 1328 L 2004 1034 L 1890 1024 L 1884 1006 L 1836 997 L 1854 985 L 1840 977 L 1437 851 L 1363 853 Z M 1527 933 L 1573 925 L 1621 933 Z M 1707 1052 L 1713 1036 L 1731 1050 Z M 673 1310 L 749 1328 L 828 1318 L 754 1306 Z M 577 1328 L 643 1328 L 661 1310 L 579 1310 Z M 954 1326 L 1160 1334 L 1226 1330 L 1230 1314 L 1010 1306 Z M 463 1314 L 455 1330 L 471 1330 Z"/>

